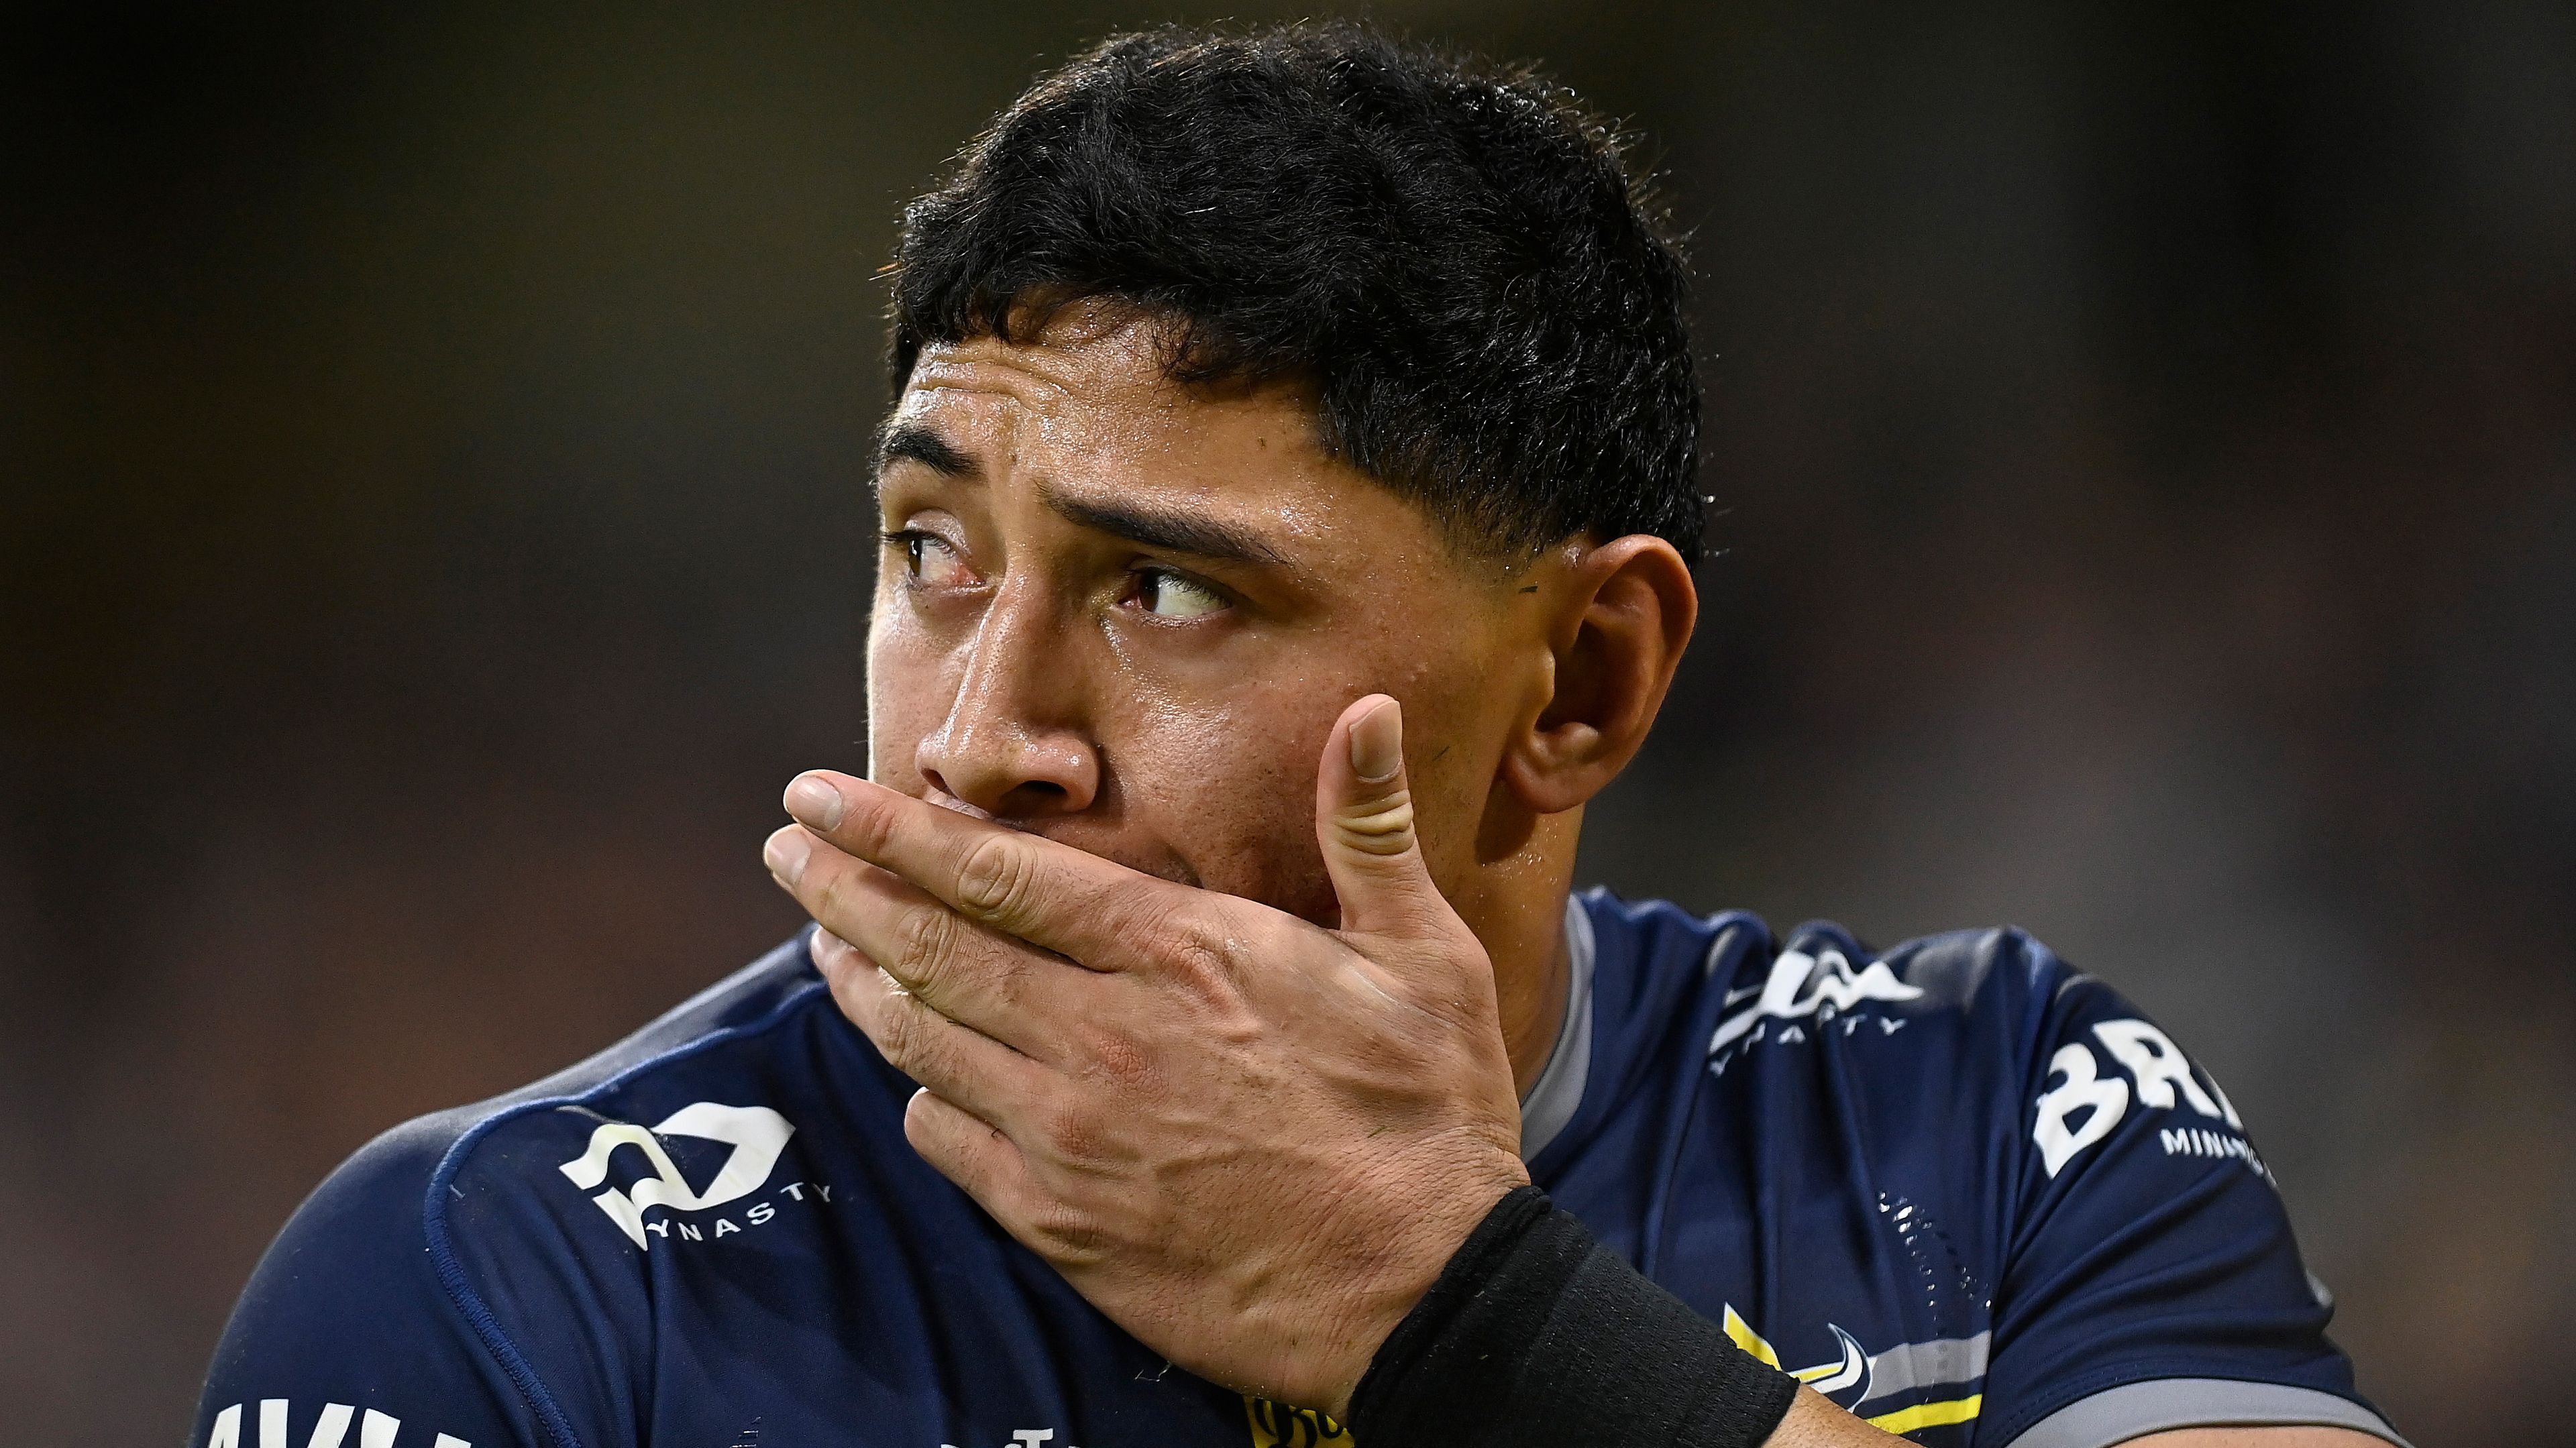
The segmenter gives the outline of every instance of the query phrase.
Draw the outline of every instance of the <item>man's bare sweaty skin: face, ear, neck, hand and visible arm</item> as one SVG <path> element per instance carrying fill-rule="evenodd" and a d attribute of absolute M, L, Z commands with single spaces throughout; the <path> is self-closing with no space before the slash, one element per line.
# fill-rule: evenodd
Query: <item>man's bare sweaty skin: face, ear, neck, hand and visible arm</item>
<path fill-rule="evenodd" d="M 1461 549 L 1303 392 L 1172 386 L 1159 340 L 1077 307 L 922 353 L 878 472 L 873 783 L 799 776 L 765 858 L 922 1082 L 925 1159 L 1175 1363 L 1340 1415 L 1528 1180 L 1582 806 L 1698 603 L 1659 538 Z M 1801 1389 L 1770 1443 L 1896 1440 Z"/>

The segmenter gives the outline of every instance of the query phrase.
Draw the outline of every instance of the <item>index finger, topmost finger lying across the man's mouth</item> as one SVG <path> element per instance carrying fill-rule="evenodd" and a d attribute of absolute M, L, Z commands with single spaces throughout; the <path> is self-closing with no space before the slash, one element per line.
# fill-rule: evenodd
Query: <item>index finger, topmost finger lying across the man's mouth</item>
<path fill-rule="evenodd" d="M 1172 917 L 1185 889 L 845 773 L 796 776 L 786 804 L 842 853 L 894 871 L 969 920 L 1092 969 L 1131 964 L 1136 943 Z"/>

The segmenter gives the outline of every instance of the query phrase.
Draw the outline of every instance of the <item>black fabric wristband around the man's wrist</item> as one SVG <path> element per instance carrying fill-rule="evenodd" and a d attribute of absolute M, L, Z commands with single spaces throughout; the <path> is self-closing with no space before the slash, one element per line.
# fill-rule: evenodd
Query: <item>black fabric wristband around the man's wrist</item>
<path fill-rule="evenodd" d="M 1759 1448 L 1798 1384 L 1520 1188 L 1350 1394 L 1368 1448 Z"/>

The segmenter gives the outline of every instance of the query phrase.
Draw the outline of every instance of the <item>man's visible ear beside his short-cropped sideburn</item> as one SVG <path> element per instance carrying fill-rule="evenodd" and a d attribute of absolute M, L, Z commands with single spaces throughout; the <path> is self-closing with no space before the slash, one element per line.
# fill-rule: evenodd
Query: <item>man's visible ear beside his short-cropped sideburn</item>
<path fill-rule="evenodd" d="M 1700 618 L 1690 564 L 1646 533 L 1584 551 L 1553 582 L 1551 693 L 1502 757 L 1533 814 L 1574 809 L 1628 768 Z"/>

